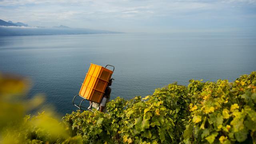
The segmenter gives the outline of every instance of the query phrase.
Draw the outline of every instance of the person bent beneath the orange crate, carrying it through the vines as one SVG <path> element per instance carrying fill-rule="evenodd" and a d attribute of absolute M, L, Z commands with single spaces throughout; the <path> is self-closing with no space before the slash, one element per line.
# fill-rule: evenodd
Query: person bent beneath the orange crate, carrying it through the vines
<path fill-rule="evenodd" d="M 96 108 L 97 110 L 100 110 L 100 112 L 104 112 L 106 113 L 106 104 L 109 102 L 110 100 L 110 93 L 111 93 L 111 88 L 110 86 L 112 85 L 112 80 L 114 80 L 113 78 L 110 78 L 108 85 L 106 87 L 106 90 L 104 92 L 104 95 L 102 97 L 102 100 L 100 102 L 100 104 L 96 103 L 96 102 L 92 102 L 90 101 L 90 105 L 92 104 L 93 108 Z"/>

